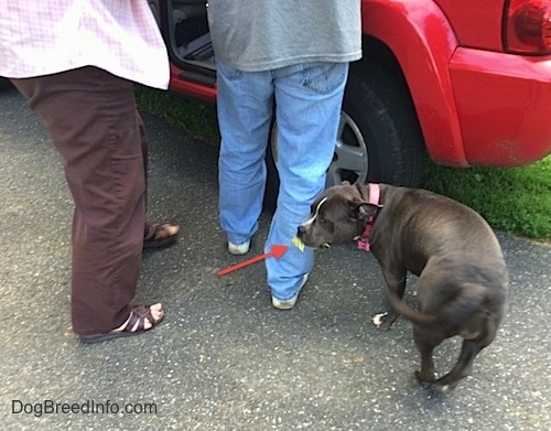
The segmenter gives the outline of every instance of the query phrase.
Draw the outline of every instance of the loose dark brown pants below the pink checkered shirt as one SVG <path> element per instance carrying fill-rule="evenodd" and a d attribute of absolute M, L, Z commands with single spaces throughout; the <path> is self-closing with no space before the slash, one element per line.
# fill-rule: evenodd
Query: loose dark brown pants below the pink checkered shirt
<path fill-rule="evenodd" d="M 109 332 L 130 313 L 145 222 L 145 141 L 133 84 L 95 67 L 13 79 L 63 158 L 75 201 L 72 321 Z"/>

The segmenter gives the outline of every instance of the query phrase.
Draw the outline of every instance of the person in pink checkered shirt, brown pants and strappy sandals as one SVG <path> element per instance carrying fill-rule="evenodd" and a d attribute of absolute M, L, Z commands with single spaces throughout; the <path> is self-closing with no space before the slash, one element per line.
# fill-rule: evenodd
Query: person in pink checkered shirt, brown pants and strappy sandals
<path fill-rule="evenodd" d="M 131 303 L 142 249 L 173 243 L 180 229 L 145 223 L 147 142 L 133 82 L 168 85 L 159 29 L 144 0 L 22 0 L 7 8 L 0 75 L 41 117 L 75 202 L 73 331 L 84 343 L 143 333 L 164 310 Z"/>

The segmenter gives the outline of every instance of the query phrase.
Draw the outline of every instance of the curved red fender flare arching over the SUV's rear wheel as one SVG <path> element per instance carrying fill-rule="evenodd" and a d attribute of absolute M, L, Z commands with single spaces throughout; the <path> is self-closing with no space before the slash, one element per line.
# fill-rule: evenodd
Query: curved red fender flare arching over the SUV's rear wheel
<path fill-rule="evenodd" d="M 449 69 L 458 43 L 442 10 L 428 0 L 363 0 L 361 14 L 364 34 L 399 63 L 431 159 L 467 166 Z"/>

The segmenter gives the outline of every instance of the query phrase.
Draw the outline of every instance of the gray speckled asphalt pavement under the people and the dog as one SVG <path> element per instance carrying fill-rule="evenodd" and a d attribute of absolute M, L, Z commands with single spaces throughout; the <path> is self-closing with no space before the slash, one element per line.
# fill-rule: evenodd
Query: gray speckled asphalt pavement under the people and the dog
<path fill-rule="evenodd" d="M 149 218 L 183 226 L 143 256 L 137 303 L 150 333 L 83 345 L 71 330 L 73 203 L 61 160 L 15 90 L 0 94 L 0 423 L 6 430 L 550 430 L 551 247 L 498 234 L 510 308 L 472 377 L 450 395 L 413 377 L 411 325 L 371 324 L 383 280 L 353 244 L 317 255 L 291 311 L 262 263 L 219 277 L 217 147 L 144 115 Z M 507 211 L 507 208 L 504 208 Z M 247 257 L 262 254 L 269 216 Z M 411 280 L 412 294 L 415 280 Z M 449 370 L 458 341 L 436 352 Z"/>

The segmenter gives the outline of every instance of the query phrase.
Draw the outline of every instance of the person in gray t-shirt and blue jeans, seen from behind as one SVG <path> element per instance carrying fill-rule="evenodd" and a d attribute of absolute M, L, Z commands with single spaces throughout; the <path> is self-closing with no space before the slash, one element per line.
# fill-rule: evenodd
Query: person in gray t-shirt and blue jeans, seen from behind
<path fill-rule="evenodd" d="M 360 0 L 209 0 L 217 61 L 220 225 L 245 255 L 258 229 L 270 126 L 278 125 L 280 190 L 264 249 L 272 304 L 288 310 L 314 266 L 292 239 L 323 191 L 333 159 L 348 63 L 361 57 Z"/>

